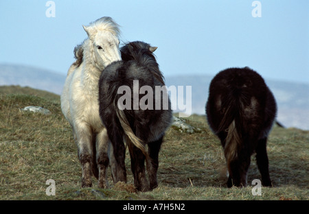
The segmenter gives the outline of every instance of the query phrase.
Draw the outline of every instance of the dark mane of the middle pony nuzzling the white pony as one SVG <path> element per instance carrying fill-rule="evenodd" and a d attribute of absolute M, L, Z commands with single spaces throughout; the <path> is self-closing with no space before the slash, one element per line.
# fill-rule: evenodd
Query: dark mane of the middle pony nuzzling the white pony
<path fill-rule="evenodd" d="M 159 80 L 162 84 L 164 83 L 164 77 L 161 71 L 159 70 L 159 64 L 155 58 L 155 54 L 150 51 L 150 45 L 148 43 L 136 41 L 132 43 L 126 43 L 124 47 L 120 49 L 122 53 L 122 60 L 135 60 L 140 64 L 146 65 L 150 68 L 149 70 L 155 78 Z"/>

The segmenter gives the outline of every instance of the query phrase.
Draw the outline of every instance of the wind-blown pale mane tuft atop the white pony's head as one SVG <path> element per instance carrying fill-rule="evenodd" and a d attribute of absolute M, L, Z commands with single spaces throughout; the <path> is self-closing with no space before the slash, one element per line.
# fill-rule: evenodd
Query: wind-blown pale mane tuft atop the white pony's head
<path fill-rule="evenodd" d="M 100 19 L 97 19 L 96 21 L 93 21 L 89 24 L 89 27 L 95 27 L 98 30 L 106 30 L 115 36 L 119 36 L 120 34 L 119 25 L 108 16 L 104 16 Z"/>

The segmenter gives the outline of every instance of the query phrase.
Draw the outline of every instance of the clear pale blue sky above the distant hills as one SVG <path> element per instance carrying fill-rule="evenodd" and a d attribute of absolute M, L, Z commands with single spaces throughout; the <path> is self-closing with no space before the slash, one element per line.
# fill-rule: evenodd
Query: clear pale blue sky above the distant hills
<path fill-rule="evenodd" d="M 253 0 L 0 1 L 0 63 L 67 73 L 73 48 L 87 37 L 82 25 L 111 16 L 124 42 L 144 40 L 165 76 L 215 75 L 249 66 L 264 78 L 309 83 L 309 1 Z"/>

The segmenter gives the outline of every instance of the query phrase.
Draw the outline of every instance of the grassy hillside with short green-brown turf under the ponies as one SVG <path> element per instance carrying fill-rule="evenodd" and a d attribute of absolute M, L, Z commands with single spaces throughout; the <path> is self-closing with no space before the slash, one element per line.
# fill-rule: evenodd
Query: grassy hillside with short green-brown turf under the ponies
<path fill-rule="evenodd" d="M 60 97 L 31 88 L 5 90 L 0 88 L 0 200 L 309 200 L 309 132 L 273 128 L 268 158 L 274 187 L 262 187 L 262 195 L 253 196 L 251 181 L 260 178 L 255 157 L 249 187 L 228 189 L 220 143 L 205 117 L 196 115 L 187 123 L 203 132 L 171 127 L 166 133 L 157 189 L 135 192 L 128 152 L 128 184 L 114 185 L 108 171 L 108 189 L 98 189 L 95 178 L 92 188 L 81 189 L 77 147 Z M 25 106 L 41 106 L 52 114 L 21 111 Z M 54 196 L 45 193 L 48 179 L 56 182 Z"/>

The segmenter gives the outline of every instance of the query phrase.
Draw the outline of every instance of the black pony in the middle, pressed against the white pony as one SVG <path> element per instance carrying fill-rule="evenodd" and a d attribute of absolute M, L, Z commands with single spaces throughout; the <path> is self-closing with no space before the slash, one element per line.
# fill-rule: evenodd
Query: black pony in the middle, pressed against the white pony
<path fill-rule="evenodd" d="M 109 156 L 113 181 L 126 182 L 126 141 L 135 187 L 139 191 L 158 185 L 159 150 L 172 121 L 163 75 L 152 53 L 155 49 L 157 47 L 139 41 L 126 44 L 121 49 L 122 61 L 106 67 L 99 82 L 100 117 L 111 141 Z M 146 179 L 145 160 L 150 185 Z"/>

